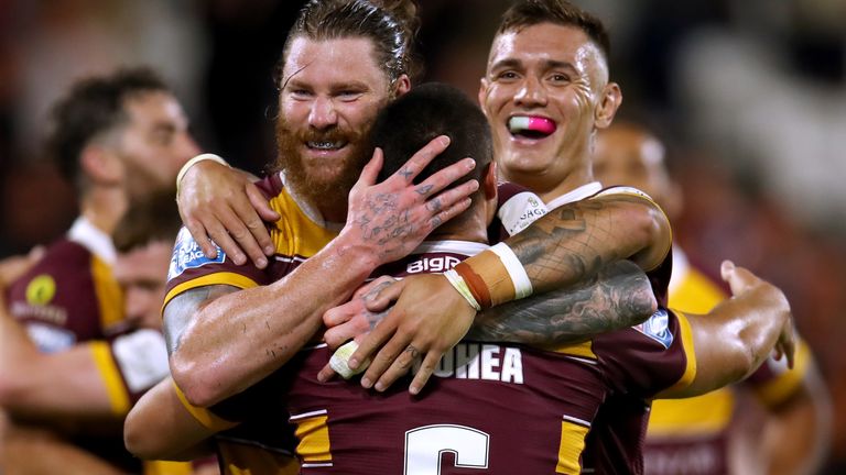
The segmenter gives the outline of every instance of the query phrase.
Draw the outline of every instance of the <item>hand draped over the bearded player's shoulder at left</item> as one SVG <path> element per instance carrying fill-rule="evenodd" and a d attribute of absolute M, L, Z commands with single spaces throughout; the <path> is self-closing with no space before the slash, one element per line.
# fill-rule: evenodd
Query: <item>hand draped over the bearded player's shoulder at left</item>
<path fill-rule="evenodd" d="M 249 256 L 258 267 L 267 266 L 265 254 L 273 255 L 274 248 L 264 221 L 279 214 L 253 181 L 251 175 L 214 161 L 197 162 L 182 176 L 180 214 L 207 257 L 217 255 L 217 244 L 236 264 Z"/>

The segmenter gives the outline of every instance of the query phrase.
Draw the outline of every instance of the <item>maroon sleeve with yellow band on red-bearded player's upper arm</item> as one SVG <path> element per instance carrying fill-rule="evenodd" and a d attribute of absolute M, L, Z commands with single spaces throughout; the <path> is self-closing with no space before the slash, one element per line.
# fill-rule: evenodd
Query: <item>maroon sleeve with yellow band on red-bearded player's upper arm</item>
<path fill-rule="evenodd" d="M 217 256 L 208 258 L 187 228 L 180 230 L 167 269 L 164 306 L 175 296 L 192 288 L 229 285 L 240 289 L 270 284 L 264 270 L 252 264 L 236 265 L 217 246 Z"/>

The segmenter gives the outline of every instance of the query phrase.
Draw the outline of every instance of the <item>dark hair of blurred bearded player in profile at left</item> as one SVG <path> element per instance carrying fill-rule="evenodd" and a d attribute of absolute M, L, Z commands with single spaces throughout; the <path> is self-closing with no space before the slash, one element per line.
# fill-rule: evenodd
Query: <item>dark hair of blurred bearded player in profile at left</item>
<path fill-rule="evenodd" d="M 47 148 L 62 175 L 78 183 L 80 155 L 85 147 L 127 123 L 128 99 L 152 91 L 170 89 L 149 68 L 119 69 L 109 76 L 77 81 L 52 110 Z"/>

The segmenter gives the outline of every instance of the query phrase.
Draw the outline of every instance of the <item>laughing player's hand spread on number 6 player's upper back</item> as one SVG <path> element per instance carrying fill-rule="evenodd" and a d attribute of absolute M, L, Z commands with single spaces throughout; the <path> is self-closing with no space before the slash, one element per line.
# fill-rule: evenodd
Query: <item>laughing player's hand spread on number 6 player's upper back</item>
<path fill-rule="evenodd" d="M 382 289 L 369 308 L 393 307 L 360 343 L 349 361 L 357 369 L 370 361 L 361 386 L 383 391 L 405 375 L 420 358 L 420 368 L 409 387 L 419 394 L 441 357 L 458 343 L 476 317 L 476 310 L 441 274 L 419 274 Z"/>

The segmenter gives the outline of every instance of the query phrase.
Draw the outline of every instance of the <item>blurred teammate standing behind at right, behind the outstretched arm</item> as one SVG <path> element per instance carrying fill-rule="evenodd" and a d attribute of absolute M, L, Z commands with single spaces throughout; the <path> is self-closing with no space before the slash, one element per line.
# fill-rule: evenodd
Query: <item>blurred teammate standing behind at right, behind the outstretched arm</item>
<path fill-rule="evenodd" d="M 639 188 L 658 201 L 671 219 L 682 211 L 681 189 L 670 177 L 665 148 L 643 126 L 622 122 L 598 134 L 594 173 L 608 185 Z M 694 267 L 679 245 L 673 246 L 672 308 L 705 313 L 725 300 L 723 287 Z M 763 434 L 753 454 L 731 451 L 736 394 L 750 391 L 766 409 Z M 748 380 L 690 399 L 657 400 L 652 406 L 644 449 L 646 472 L 653 475 L 716 475 L 738 472 L 744 463 L 761 463 L 761 473 L 816 473 L 829 430 L 826 388 L 807 346 L 800 342 L 795 363 L 769 360 Z M 751 459 L 747 461 L 746 459 Z M 752 465 L 755 466 L 755 465 Z M 746 465 L 746 470 L 749 466 Z"/>

